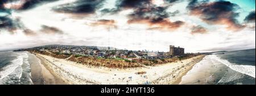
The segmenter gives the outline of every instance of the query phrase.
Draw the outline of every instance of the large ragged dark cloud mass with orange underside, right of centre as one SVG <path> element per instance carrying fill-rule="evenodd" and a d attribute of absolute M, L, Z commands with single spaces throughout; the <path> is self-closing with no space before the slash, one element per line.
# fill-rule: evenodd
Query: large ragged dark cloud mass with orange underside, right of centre
<path fill-rule="evenodd" d="M 172 3 L 175 1 L 167 1 Z M 134 12 L 128 15 L 127 23 L 148 24 L 150 30 L 175 30 L 184 24 L 182 21 L 171 22 L 168 17 L 179 13 L 166 12 L 168 6 L 156 6 L 150 0 L 122 0 L 117 1 L 115 9 L 104 9 L 102 12 L 116 13 L 125 9 L 133 9 Z"/>

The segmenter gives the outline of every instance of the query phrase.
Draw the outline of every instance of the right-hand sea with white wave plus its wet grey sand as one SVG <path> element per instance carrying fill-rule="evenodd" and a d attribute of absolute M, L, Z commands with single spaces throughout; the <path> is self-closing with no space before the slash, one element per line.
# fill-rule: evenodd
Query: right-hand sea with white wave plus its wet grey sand
<path fill-rule="evenodd" d="M 207 55 L 180 84 L 255 85 L 255 49 Z"/>

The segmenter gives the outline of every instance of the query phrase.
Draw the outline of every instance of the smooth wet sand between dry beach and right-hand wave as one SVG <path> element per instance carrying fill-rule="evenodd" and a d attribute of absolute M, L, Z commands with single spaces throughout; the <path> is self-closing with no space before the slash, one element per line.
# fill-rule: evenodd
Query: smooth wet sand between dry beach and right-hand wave
<path fill-rule="evenodd" d="M 212 60 L 205 56 L 203 60 L 195 64 L 188 73 L 186 73 L 179 84 L 182 85 L 205 85 L 217 84 L 224 76 L 228 67 L 221 62 Z"/>

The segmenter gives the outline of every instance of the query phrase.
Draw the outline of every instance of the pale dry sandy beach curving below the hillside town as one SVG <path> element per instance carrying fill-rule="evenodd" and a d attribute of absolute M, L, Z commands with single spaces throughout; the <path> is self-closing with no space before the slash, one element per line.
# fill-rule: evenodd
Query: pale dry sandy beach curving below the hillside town
<path fill-rule="evenodd" d="M 130 69 L 111 69 L 78 64 L 65 59 L 35 54 L 53 77 L 64 84 L 179 84 L 186 74 L 204 55 L 158 66 Z M 138 72 L 146 72 L 137 74 Z"/>

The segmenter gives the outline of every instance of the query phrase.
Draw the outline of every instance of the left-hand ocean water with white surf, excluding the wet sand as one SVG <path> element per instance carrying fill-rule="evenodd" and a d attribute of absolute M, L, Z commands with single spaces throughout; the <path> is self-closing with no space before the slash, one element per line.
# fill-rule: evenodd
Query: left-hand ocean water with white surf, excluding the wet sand
<path fill-rule="evenodd" d="M 1 84 L 32 84 L 28 52 L 0 52 Z"/>

